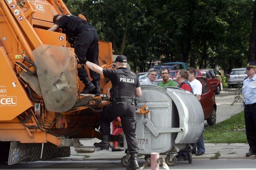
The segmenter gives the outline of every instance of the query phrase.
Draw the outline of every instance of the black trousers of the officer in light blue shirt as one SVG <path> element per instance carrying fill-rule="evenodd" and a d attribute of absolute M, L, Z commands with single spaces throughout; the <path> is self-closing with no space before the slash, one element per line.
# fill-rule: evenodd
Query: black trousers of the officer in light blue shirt
<path fill-rule="evenodd" d="M 256 105 L 244 108 L 246 137 L 250 151 L 256 152 Z"/>

